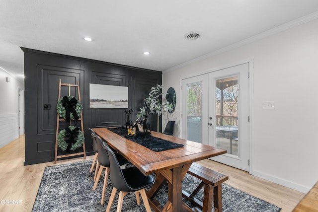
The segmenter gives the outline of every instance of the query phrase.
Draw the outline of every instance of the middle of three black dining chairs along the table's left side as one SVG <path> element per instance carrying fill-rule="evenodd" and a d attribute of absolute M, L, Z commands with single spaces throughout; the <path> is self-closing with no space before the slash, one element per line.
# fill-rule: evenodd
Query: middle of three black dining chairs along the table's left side
<path fill-rule="evenodd" d="M 105 192 L 106 192 L 106 186 L 107 186 L 108 173 L 110 171 L 110 169 L 109 169 L 109 167 L 110 167 L 109 156 L 107 154 L 106 149 L 104 149 L 102 146 L 102 142 L 105 142 L 105 141 L 102 141 L 101 138 L 97 135 L 91 134 L 91 136 L 96 139 L 97 151 L 98 151 L 97 161 L 99 163 L 98 173 L 97 173 L 96 180 L 95 180 L 95 183 L 93 186 L 93 191 L 95 191 L 97 184 L 98 184 L 98 181 L 100 179 L 101 173 L 102 173 L 103 169 L 105 169 L 103 192 L 102 192 L 101 203 L 100 203 L 101 205 L 103 205 L 104 200 L 105 200 Z M 107 143 L 105 142 L 104 145 L 107 145 Z M 128 163 L 128 160 L 125 157 L 123 157 L 121 154 L 116 153 L 115 157 L 119 161 L 120 165 L 124 165 L 124 164 Z"/>

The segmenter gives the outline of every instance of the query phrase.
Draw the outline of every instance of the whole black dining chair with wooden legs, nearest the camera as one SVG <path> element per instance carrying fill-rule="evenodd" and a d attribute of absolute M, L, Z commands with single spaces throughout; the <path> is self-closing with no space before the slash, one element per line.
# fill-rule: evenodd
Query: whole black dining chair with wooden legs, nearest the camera
<path fill-rule="evenodd" d="M 110 180 L 113 185 L 113 190 L 110 195 L 110 199 L 106 208 L 106 212 L 110 211 L 111 205 L 114 202 L 116 192 L 119 191 L 119 200 L 117 205 L 117 212 L 121 211 L 124 196 L 128 192 L 135 192 L 137 205 L 140 205 L 141 195 L 146 211 L 151 212 L 150 205 L 148 202 L 145 187 L 155 182 L 151 175 L 143 175 L 137 167 L 129 167 L 126 169 L 120 168 L 114 152 L 107 146 L 106 142 L 102 142 L 103 147 L 107 150 L 110 161 Z"/>

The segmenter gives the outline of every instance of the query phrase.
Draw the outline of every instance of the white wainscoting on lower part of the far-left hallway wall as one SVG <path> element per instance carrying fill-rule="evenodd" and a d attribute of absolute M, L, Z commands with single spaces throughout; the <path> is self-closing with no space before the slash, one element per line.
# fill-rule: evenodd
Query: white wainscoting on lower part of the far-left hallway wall
<path fill-rule="evenodd" d="M 19 114 L 0 114 L 0 148 L 19 138 Z"/>

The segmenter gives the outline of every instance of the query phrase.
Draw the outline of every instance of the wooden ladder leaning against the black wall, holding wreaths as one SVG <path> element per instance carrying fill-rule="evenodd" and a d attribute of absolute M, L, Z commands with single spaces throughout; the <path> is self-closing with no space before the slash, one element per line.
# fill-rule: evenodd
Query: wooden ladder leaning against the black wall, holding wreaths
<path fill-rule="evenodd" d="M 78 95 L 79 95 L 79 101 L 80 101 L 80 91 L 79 91 L 79 81 L 77 84 L 68 84 L 68 83 L 62 83 L 62 79 L 60 79 L 59 82 L 59 98 L 58 101 L 61 99 L 61 87 L 62 86 L 68 86 L 69 87 L 69 96 L 71 95 L 71 87 L 78 87 Z M 83 119 L 82 119 L 82 113 L 80 111 L 79 120 L 80 120 L 80 128 L 81 132 L 84 135 L 84 127 L 83 127 Z M 77 152 L 77 153 L 70 153 L 70 154 L 63 154 L 58 155 L 58 135 L 59 135 L 59 124 L 60 121 L 65 121 L 65 119 L 60 118 L 60 114 L 57 115 L 57 122 L 56 122 L 56 138 L 55 138 L 55 158 L 54 162 L 57 162 L 58 158 L 64 158 L 64 157 L 70 157 L 70 156 L 76 156 L 76 155 L 84 155 L 84 158 L 86 158 L 86 152 L 85 152 L 85 141 L 83 142 L 83 151 Z M 70 120 L 70 126 L 72 124 L 72 120 Z"/>

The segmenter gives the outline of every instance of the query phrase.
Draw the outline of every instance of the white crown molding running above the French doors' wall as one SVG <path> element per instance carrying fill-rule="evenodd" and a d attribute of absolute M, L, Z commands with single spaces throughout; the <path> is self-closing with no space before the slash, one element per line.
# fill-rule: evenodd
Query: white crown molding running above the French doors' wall
<path fill-rule="evenodd" d="M 226 46 L 222 49 L 219 49 L 219 50 L 216 50 L 214 52 L 211 52 L 211 53 L 208 53 L 206 55 L 203 55 L 203 56 L 200 56 L 198 58 L 195 58 L 193 60 L 190 60 L 190 61 L 187 61 L 185 63 L 182 63 L 180 65 L 177 65 L 177 66 L 174 66 L 172 68 L 169 68 L 167 70 L 164 70 L 162 71 L 163 73 L 166 73 L 166 72 L 170 72 L 170 71 L 174 71 L 174 70 L 177 70 L 177 69 L 180 69 L 182 67 L 185 67 L 185 66 L 188 66 L 188 65 L 191 65 L 193 63 L 196 63 L 198 61 L 202 61 L 204 59 L 207 59 L 207 58 L 210 58 L 210 57 L 213 57 L 215 55 L 219 55 L 221 53 L 224 53 L 224 52 L 228 52 L 230 50 L 233 50 L 235 48 L 238 48 L 240 46 L 244 46 L 246 44 L 249 44 L 249 43 L 252 43 L 254 41 L 257 41 L 257 40 L 260 40 L 260 39 L 263 39 L 263 38 L 266 38 L 266 37 L 269 37 L 271 35 L 274 35 L 274 34 L 277 34 L 279 32 L 282 32 L 282 31 L 285 31 L 287 29 L 290 29 L 290 28 L 293 28 L 293 27 L 296 27 L 296 26 L 299 26 L 299 25 L 302 25 L 302 24 L 305 24 L 307 22 L 310 22 L 312 20 L 315 20 L 318 18 L 318 11 L 317 12 L 314 12 L 314 13 L 311 13 L 309 15 L 306 15 L 306 16 L 303 16 L 303 17 L 300 17 L 300 18 L 297 18 L 293 21 L 290 21 L 290 22 L 287 22 L 285 24 L 282 24 L 282 25 L 279 25 L 275 28 L 272 28 L 270 30 L 267 30 L 265 32 L 262 32 L 262 33 L 259 33 L 257 35 L 254 35 L 252 37 L 249 37 L 249 38 L 246 38 L 242 41 L 239 41 L 235 44 L 232 44 L 232 45 L 229 45 L 229 46 Z"/>

